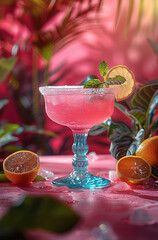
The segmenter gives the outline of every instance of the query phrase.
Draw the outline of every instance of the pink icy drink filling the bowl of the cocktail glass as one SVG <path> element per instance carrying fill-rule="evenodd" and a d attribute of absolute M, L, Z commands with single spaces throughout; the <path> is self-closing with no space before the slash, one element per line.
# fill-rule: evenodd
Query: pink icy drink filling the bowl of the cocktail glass
<path fill-rule="evenodd" d="M 111 117 L 113 93 L 48 93 L 44 95 L 46 112 L 51 120 L 72 130 L 84 132 Z"/>

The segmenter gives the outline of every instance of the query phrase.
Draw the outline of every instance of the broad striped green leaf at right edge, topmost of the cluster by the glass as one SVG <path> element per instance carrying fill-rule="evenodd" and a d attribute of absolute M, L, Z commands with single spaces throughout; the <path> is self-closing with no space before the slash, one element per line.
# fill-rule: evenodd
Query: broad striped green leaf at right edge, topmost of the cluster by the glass
<path fill-rule="evenodd" d="M 137 94 L 133 97 L 131 104 L 133 107 L 141 109 L 144 112 L 147 112 L 152 97 L 156 90 L 158 89 L 158 80 L 157 82 L 143 86 Z"/>

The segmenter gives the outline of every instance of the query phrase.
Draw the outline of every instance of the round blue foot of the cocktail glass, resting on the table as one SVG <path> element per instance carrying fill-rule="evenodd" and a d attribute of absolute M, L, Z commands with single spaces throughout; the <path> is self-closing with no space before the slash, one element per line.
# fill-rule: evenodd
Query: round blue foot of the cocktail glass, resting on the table
<path fill-rule="evenodd" d="M 108 179 L 94 176 L 88 171 L 73 171 L 66 177 L 54 179 L 52 183 L 56 186 L 67 186 L 69 188 L 103 188 L 110 184 Z"/>

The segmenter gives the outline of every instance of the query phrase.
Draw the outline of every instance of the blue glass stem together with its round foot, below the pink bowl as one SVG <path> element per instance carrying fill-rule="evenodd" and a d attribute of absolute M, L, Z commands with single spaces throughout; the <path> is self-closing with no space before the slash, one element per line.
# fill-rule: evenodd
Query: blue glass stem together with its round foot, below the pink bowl
<path fill-rule="evenodd" d="M 72 151 L 73 171 L 65 177 L 54 179 L 52 182 L 56 186 L 68 186 L 69 188 L 101 188 L 108 186 L 110 181 L 90 174 L 88 167 L 88 133 L 73 133 L 74 143 Z"/>

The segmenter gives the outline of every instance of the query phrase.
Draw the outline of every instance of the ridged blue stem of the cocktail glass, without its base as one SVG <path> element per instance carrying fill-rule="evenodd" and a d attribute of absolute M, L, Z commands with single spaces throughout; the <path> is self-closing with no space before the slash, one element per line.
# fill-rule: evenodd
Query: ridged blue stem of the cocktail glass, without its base
<path fill-rule="evenodd" d="M 72 145 L 72 151 L 74 153 L 72 165 L 74 171 L 82 171 L 87 173 L 88 167 L 88 144 L 87 144 L 87 133 L 74 133 L 74 143 Z"/>

